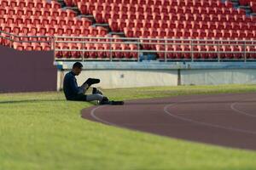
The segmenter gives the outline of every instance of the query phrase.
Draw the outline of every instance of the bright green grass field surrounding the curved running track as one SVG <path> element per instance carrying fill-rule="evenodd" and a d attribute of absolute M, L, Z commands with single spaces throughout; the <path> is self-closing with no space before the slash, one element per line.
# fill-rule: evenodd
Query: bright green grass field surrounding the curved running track
<path fill-rule="evenodd" d="M 104 90 L 112 99 L 256 92 L 256 85 Z M 0 94 L 0 170 L 256 169 L 256 152 L 109 127 L 61 93 Z"/>

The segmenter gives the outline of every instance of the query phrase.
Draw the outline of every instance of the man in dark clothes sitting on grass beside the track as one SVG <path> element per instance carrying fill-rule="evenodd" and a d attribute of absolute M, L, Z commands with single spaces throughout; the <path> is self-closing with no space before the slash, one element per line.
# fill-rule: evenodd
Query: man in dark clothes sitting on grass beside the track
<path fill-rule="evenodd" d="M 99 83 L 99 79 L 89 78 L 84 84 L 79 87 L 76 76 L 79 76 L 83 68 L 83 65 L 76 62 L 73 65 L 72 71 L 68 72 L 64 77 L 63 90 L 67 100 L 73 101 L 98 101 L 100 105 L 108 104 L 108 98 L 102 95 L 102 92 L 97 88 L 93 88 L 92 94 L 85 95 L 85 92 L 90 85 Z"/>

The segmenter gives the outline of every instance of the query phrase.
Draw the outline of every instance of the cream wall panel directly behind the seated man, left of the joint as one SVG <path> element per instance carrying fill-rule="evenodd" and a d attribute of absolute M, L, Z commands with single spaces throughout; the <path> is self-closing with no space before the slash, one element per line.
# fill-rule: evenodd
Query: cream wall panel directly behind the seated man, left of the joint
<path fill-rule="evenodd" d="M 68 71 L 64 71 L 66 74 Z M 61 75 L 61 74 L 59 74 Z M 125 70 L 85 70 L 77 77 L 78 84 L 87 78 L 101 79 L 100 88 L 136 88 L 154 86 L 177 86 L 177 71 L 125 71 Z M 61 81 L 61 83 L 63 80 Z M 62 86 L 60 86 L 62 88 Z"/>

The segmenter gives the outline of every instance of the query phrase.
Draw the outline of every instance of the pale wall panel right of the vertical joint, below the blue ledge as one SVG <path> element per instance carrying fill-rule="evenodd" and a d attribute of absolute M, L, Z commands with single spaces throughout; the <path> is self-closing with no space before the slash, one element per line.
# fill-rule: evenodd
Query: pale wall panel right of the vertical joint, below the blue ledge
<path fill-rule="evenodd" d="M 181 83 L 183 85 L 256 84 L 256 70 L 182 70 Z"/>

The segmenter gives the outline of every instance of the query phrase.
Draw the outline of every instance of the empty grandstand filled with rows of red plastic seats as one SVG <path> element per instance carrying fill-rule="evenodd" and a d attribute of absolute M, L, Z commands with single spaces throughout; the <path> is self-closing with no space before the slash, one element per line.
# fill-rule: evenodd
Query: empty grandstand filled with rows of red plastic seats
<path fill-rule="evenodd" d="M 1 44 L 59 60 L 254 59 L 254 10 L 249 0 L 3 0 Z"/>

